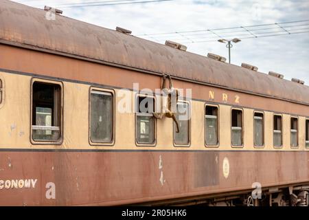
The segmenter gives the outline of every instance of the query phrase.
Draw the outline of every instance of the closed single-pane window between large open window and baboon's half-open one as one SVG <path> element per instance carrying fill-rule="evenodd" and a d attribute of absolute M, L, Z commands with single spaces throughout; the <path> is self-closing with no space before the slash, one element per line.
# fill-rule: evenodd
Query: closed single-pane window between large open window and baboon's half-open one
<path fill-rule="evenodd" d="M 90 140 L 91 143 L 113 142 L 114 126 L 113 94 L 91 90 L 90 94 Z"/>

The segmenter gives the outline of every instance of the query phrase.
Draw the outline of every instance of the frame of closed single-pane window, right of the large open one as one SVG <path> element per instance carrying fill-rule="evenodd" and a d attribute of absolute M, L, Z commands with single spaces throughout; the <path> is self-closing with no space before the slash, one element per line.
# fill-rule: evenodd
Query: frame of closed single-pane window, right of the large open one
<path fill-rule="evenodd" d="M 110 93 L 113 95 L 113 139 L 111 142 L 92 142 L 91 140 L 91 91 L 102 91 L 106 93 Z M 89 107 L 88 107 L 88 138 L 90 146 L 114 146 L 116 139 L 116 129 L 115 129 L 115 119 L 116 119 L 116 111 L 115 111 L 115 90 L 114 89 L 106 89 L 102 87 L 89 87 Z"/>

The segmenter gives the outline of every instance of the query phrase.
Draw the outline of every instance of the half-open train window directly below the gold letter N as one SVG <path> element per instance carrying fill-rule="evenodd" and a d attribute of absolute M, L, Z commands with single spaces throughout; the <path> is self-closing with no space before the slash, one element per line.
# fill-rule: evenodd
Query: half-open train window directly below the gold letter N
<path fill-rule="evenodd" d="M 218 146 L 218 107 L 205 107 L 205 144 L 207 146 Z"/>

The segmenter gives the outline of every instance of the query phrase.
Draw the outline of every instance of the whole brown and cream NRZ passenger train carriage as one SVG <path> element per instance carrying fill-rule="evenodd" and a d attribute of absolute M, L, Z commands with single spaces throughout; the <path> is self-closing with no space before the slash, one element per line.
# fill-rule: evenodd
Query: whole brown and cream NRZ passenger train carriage
<path fill-rule="evenodd" d="M 48 12 L 0 0 L 1 206 L 308 206 L 304 82 Z"/>

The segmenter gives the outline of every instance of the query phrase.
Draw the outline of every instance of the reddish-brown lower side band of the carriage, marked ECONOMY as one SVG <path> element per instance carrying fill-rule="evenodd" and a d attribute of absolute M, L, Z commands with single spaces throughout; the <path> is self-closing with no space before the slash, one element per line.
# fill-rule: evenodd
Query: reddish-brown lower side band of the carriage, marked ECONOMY
<path fill-rule="evenodd" d="M 250 190 L 255 181 L 262 186 L 309 182 L 308 155 L 254 151 L 1 152 L 1 158 L 12 158 L 14 166 L 7 169 L 5 159 L 1 159 L 0 167 L 4 170 L 0 179 L 37 180 L 30 188 L 0 188 L 0 205 L 115 205 Z M 222 174 L 224 158 L 230 164 L 227 178 Z M 295 161 L 282 164 L 277 159 Z M 80 163 L 81 160 L 87 163 Z M 210 163 L 206 164 L 207 161 Z M 56 199 L 47 199 L 45 195 L 45 186 L 50 182 L 56 186 Z"/>

